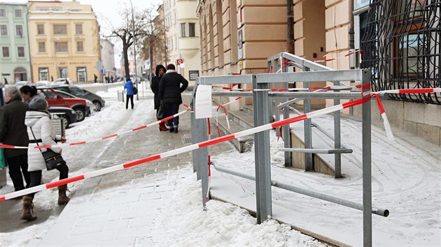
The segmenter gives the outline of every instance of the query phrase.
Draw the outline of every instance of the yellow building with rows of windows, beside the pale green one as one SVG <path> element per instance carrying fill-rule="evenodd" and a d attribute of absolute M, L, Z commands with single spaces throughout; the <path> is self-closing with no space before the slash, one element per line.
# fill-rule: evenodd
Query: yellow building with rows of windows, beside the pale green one
<path fill-rule="evenodd" d="M 34 81 L 99 76 L 99 24 L 90 5 L 76 1 L 29 1 L 29 47 Z"/>

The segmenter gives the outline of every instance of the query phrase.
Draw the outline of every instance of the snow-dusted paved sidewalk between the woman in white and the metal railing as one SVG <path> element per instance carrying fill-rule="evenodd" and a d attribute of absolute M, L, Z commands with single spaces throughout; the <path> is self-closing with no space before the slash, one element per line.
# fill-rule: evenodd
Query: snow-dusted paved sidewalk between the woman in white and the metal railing
<path fill-rule="evenodd" d="M 184 102 L 188 99 L 185 96 Z M 154 112 L 145 117 L 147 123 L 155 121 Z M 151 128 L 117 137 L 95 167 L 183 147 L 190 144 L 190 138 L 190 114 L 183 114 L 178 134 Z M 219 154 L 231 149 L 224 143 L 210 150 L 211 154 Z M 150 235 L 152 219 L 158 207 L 169 202 L 181 169 L 188 167 L 193 167 L 191 152 L 87 179 L 48 233 L 42 239 L 31 240 L 28 246 L 151 246 L 155 244 Z"/>

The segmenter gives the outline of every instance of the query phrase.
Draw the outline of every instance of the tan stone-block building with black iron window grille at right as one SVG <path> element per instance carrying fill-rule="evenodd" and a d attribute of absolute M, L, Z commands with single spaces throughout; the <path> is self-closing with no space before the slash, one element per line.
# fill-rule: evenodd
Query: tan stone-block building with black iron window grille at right
<path fill-rule="evenodd" d="M 297 56 L 333 59 L 322 64 L 338 70 L 370 68 L 373 91 L 441 87 L 437 0 L 200 0 L 197 13 L 202 75 L 267 73 L 267 57 L 290 51 L 293 40 Z M 440 145 L 440 98 L 440 93 L 391 95 L 383 104 L 395 127 Z M 330 106 L 333 100 L 314 105 Z M 360 115 L 360 107 L 344 113 Z M 372 118 L 381 120 L 377 107 Z"/>

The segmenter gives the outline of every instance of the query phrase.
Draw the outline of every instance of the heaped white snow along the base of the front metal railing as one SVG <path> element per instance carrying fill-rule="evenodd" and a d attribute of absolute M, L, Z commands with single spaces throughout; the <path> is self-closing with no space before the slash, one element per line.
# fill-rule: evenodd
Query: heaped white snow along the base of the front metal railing
<path fill-rule="evenodd" d="M 276 220 L 258 225 L 248 211 L 210 200 L 202 208 L 201 183 L 186 168 L 172 201 L 153 220 L 153 242 L 160 246 L 325 246 Z"/>

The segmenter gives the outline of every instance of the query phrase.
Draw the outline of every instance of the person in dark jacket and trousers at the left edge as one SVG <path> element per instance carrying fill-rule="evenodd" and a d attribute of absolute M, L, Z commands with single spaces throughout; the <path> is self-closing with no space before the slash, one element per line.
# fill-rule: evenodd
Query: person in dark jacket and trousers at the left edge
<path fill-rule="evenodd" d="M 6 105 L 0 109 L 0 143 L 25 147 L 29 144 L 25 126 L 25 116 L 29 106 L 22 101 L 20 91 L 16 87 L 9 86 L 3 90 Z M 26 188 L 29 188 L 31 177 L 27 172 L 27 150 L 5 149 L 4 156 L 15 191 L 25 189 L 23 177 L 25 177 Z"/>

